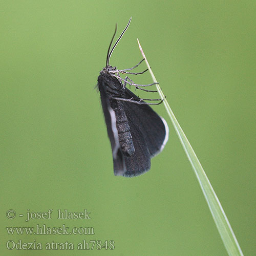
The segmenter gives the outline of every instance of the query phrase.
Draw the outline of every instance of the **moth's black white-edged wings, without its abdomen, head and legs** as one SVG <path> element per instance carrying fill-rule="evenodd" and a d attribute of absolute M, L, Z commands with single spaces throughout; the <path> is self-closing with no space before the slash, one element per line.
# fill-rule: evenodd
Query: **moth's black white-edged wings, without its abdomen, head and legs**
<path fill-rule="evenodd" d="M 111 108 L 118 105 L 116 99 L 106 93 L 104 81 L 98 83 L 101 103 L 106 127 L 111 142 L 114 173 L 126 177 L 138 176 L 150 169 L 151 158 L 158 154 L 168 139 L 168 126 L 149 105 L 121 101 L 130 126 L 135 152 L 132 155 L 123 154 L 120 146 L 122 134 L 117 131 L 116 120 L 118 109 Z M 125 89 L 127 99 L 139 99 L 130 90 Z M 114 103 L 114 104 L 113 104 Z M 116 111 L 116 112 L 115 112 Z M 120 114 L 119 114 L 120 115 Z"/>

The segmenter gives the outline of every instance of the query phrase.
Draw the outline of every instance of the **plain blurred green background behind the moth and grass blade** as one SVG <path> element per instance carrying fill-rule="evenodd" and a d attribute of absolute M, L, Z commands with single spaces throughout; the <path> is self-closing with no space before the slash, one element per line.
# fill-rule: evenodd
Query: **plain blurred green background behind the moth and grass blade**
<path fill-rule="evenodd" d="M 95 85 L 115 23 L 119 34 L 130 16 L 111 65 L 134 66 L 140 39 L 244 254 L 255 255 L 255 1 L 1 1 L 0 13 L 2 255 L 227 254 L 163 105 L 154 109 L 169 141 L 150 172 L 113 174 Z M 50 208 L 51 220 L 18 217 Z M 92 219 L 57 220 L 57 209 Z M 36 224 L 95 234 L 7 234 Z M 115 249 L 6 249 L 20 239 L 114 240 Z"/>

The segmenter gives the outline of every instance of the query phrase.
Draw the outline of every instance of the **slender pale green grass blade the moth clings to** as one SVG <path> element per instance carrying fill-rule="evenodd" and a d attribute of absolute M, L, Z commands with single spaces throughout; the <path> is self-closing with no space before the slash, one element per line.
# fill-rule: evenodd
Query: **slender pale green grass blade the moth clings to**
<path fill-rule="evenodd" d="M 154 76 L 150 65 L 147 62 L 146 56 L 141 48 L 139 39 L 138 40 L 138 44 L 139 44 L 139 48 L 141 51 L 141 54 L 143 56 L 143 58 L 145 58 L 145 62 L 147 65 L 148 70 L 151 73 L 151 76 L 153 78 L 154 82 L 157 82 L 156 77 Z M 226 250 L 228 252 L 228 254 L 230 256 L 234 256 L 234 255 L 243 255 L 243 252 L 238 244 L 238 241 L 236 239 L 236 236 L 234 235 L 234 232 L 228 222 L 228 219 L 225 215 L 225 212 L 221 206 L 221 203 L 214 191 L 214 189 L 212 188 L 205 172 L 204 169 L 201 165 L 201 163 L 199 162 L 196 153 L 194 152 L 192 146 L 190 145 L 186 135 L 184 134 L 183 130 L 181 129 L 181 126 L 179 124 L 179 122 L 177 121 L 172 109 L 170 109 L 170 106 L 167 102 L 167 100 L 164 97 L 164 94 L 162 93 L 159 84 L 156 84 L 157 87 L 157 91 L 161 97 L 161 99 L 163 99 L 163 103 L 164 106 L 166 108 L 166 111 L 169 115 L 170 120 L 173 123 L 174 129 L 180 139 L 180 142 L 184 148 L 184 151 L 187 155 L 187 158 L 190 162 L 190 164 L 193 167 L 193 170 L 196 174 L 196 177 L 199 181 L 199 184 L 201 186 L 201 189 L 203 191 L 204 197 L 206 199 L 206 202 L 210 208 L 210 212 L 212 217 L 214 218 L 215 224 L 218 228 L 218 231 L 220 233 L 221 239 L 226 247 Z"/>

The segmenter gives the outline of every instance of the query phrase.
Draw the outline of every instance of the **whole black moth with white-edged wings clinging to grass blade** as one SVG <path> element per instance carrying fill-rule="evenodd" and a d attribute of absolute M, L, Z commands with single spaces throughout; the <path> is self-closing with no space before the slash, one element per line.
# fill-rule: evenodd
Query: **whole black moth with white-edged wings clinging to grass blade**
<path fill-rule="evenodd" d="M 125 177 L 138 176 L 149 170 L 151 158 L 163 150 L 168 140 L 166 121 L 149 106 L 160 104 L 161 101 L 147 103 L 143 100 L 154 99 L 141 99 L 126 88 L 126 84 L 130 84 L 136 89 L 156 92 L 143 89 L 152 84 L 135 84 L 130 78 L 123 79 L 119 76 L 119 73 L 135 75 L 144 73 L 146 70 L 140 73 L 128 72 L 138 67 L 143 60 L 135 67 L 125 70 L 118 70 L 109 65 L 111 54 L 130 22 L 131 18 L 110 50 L 116 34 L 116 26 L 106 57 L 106 67 L 100 71 L 97 85 L 112 147 L 114 174 Z"/>

